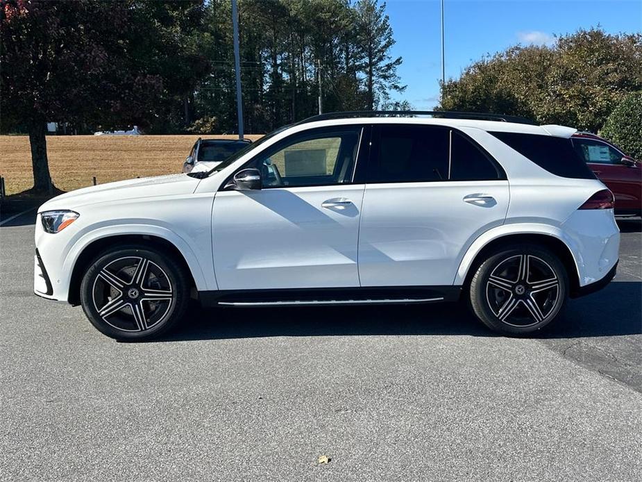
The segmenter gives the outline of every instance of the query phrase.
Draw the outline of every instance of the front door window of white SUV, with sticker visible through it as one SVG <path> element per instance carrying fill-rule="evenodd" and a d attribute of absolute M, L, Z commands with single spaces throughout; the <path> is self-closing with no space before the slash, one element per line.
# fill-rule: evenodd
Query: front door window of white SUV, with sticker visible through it
<path fill-rule="evenodd" d="M 350 183 L 361 126 L 294 134 L 245 167 L 259 169 L 266 188 Z"/>

